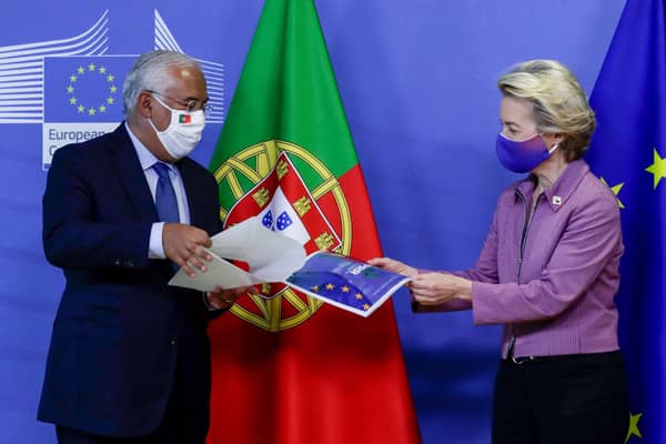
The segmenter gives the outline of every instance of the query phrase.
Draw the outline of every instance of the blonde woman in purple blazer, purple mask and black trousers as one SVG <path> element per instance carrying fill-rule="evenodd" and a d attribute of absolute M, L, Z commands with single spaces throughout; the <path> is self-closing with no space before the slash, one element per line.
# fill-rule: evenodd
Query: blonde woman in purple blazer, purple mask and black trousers
<path fill-rule="evenodd" d="M 556 61 L 519 63 L 498 88 L 497 158 L 529 174 L 500 195 L 477 262 L 458 272 L 371 263 L 413 278 L 416 311 L 471 309 L 477 325 L 504 324 L 493 443 L 623 443 L 614 297 L 624 248 L 616 199 L 582 159 L 594 112 Z"/>

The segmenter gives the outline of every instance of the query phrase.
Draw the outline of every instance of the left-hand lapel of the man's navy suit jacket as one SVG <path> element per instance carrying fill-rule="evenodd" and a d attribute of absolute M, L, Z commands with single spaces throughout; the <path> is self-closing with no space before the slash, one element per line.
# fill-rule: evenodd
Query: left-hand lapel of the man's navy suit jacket
<path fill-rule="evenodd" d="M 115 161 L 114 167 L 120 180 L 124 184 L 125 191 L 130 195 L 137 214 L 139 214 L 142 221 L 157 222 L 158 211 L 155 203 L 153 202 L 145 174 L 141 169 L 141 162 L 139 162 L 137 150 L 128 134 L 124 122 L 113 131 L 111 138 L 111 149 L 115 153 L 113 157 Z"/>

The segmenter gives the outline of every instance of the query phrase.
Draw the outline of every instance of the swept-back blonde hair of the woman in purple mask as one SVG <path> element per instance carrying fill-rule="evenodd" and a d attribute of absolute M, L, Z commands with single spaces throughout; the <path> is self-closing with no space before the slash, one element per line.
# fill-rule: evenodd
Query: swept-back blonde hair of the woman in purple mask
<path fill-rule="evenodd" d="M 574 74 L 555 60 L 518 63 L 497 81 L 504 97 L 532 103 L 539 132 L 563 134 L 559 143 L 567 161 L 581 159 L 596 123 L 585 92 Z"/>

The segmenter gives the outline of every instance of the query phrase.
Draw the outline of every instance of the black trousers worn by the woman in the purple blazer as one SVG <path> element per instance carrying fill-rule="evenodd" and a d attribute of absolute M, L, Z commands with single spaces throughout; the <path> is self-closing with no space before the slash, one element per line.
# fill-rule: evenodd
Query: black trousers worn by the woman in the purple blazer
<path fill-rule="evenodd" d="M 500 362 L 493 444 L 623 444 L 628 424 L 619 352 Z"/>

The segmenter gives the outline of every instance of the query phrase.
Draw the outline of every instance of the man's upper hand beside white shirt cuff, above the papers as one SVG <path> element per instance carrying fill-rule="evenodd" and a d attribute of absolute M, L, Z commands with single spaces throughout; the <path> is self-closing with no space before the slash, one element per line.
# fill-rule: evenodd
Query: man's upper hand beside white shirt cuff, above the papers
<path fill-rule="evenodd" d="M 204 261 L 213 258 L 203 249 L 211 245 L 211 238 L 201 229 L 182 223 L 165 223 L 162 229 L 164 254 L 191 278 L 196 275 L 194 269 L 208 271 Z"/>

